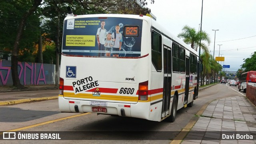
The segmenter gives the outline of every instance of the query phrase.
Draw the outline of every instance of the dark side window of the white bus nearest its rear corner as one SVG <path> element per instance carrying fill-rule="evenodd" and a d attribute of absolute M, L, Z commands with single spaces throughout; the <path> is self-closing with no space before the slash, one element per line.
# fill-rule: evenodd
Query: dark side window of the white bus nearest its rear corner
<path fill-rule="evenodd" d="M 162 71 L 162 37 L 155 32 L 151 33 L 152 63 L 157 71 Z"/>

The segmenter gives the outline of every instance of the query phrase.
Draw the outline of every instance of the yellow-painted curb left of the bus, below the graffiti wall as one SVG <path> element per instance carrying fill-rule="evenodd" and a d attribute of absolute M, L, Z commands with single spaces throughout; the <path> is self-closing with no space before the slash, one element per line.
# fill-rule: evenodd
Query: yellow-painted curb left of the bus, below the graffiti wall
<path fill-rule="evenodd" d="M 7 100 L 0 102 L 0 106 L 9 105 L 9 104 L 20 104 L 24 102 L 40 101 L 40 100 L 52 100 L 57 99 L 58 96 L 44 97 L 44 98 L 28 98 L 22 100 Z"/>

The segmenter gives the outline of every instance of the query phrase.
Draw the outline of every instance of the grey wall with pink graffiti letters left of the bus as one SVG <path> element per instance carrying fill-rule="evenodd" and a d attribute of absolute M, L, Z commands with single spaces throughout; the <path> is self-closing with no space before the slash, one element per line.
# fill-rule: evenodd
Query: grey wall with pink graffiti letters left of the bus
<path fill-rule="evenodd" d="M 20 83 L 26 85 L 55 84 L 55 65 L 18 62 Z M 0 86 L 12 85 L 11 61 L 0 60 Z"/>

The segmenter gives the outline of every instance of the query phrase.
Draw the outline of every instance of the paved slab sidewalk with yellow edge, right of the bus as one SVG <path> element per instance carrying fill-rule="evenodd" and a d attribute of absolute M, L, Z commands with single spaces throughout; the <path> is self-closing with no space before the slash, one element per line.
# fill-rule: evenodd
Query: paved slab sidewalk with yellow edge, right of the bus
<path fill-rule="evenodd" d="M 245 96 L 214 100 L 201 113 L 171 144 L 256 144 L 256 107 Z"/>

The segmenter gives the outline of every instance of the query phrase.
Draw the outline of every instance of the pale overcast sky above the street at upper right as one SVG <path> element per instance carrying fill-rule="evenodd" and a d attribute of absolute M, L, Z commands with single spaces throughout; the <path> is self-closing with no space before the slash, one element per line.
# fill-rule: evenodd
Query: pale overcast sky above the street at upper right
<path fill-rule="evenodd" d="M 185 25 L 199 30 L 202 0 L 147 1 L 156 21 L 172 34 L 177 36 Z M 230 65 L 226 70 L 237 71 L 243 59 L 256 51 L 256 0 L 204 0 L 202 30 L 211 38 L 208 48 L 212 56 L 220 53 L 225 57 L 224 65 Z M 215 52 L 213 30 L 218 30 Z"/>

